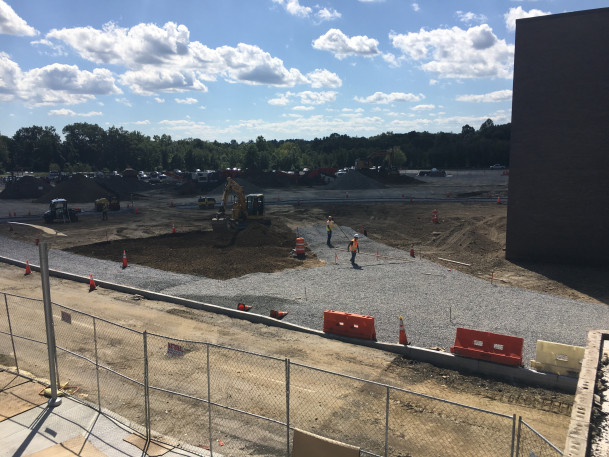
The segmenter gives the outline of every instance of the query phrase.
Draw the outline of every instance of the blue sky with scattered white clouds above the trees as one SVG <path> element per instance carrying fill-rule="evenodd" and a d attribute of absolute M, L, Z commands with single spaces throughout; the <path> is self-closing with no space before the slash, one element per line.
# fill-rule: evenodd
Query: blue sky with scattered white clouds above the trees
<path fill-rule="evenodd" d="M 230 142 L 511 121 L 516 20 L 609 0 L 0 0 L 0 134 Z"/>

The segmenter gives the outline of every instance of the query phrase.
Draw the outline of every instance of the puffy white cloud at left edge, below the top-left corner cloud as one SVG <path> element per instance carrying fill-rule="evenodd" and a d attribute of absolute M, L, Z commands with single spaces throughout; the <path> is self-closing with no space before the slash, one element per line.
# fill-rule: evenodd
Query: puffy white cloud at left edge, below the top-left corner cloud
<path fill-rule="evenodd" d="M 76 65 L 52 64 L 23 72 L 8 54 L 0 52 L 0 101 L 26 105 L 73 105 L 97 95 L 120 94 L 109 70 L 80 70 Z"/>

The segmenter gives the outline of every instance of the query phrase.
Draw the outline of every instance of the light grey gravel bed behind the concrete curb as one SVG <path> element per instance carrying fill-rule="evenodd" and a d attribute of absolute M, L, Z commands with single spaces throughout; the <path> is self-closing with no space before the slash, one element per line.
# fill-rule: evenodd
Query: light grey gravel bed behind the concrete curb
<path fill-rule="evenodd" d="M 378 340 L 385 342 L 397 343 L 402 315 L 408 339 L 418 347 L 448 350 L 457 327 L 519 336 L 525 340 L 525 366 L 535 358 L 538 339 L 584 346 L 588 330 L 609 327 L 606 305 L 492 285 L 419 257 L 412 259 L 363 234 L 358 268 L 353 268 L 347 236 L 354 232 L 340 229 L 345 235 L 335 231 L 334 249 L 326 246 L 323 226 L 299 229 L 308 247 L 326 261 L 325 267 L 227 281 L 134 264 L 123 270 L 119 262 L 56 250 L 49 253 L 49 267 L 233 309 L 242 302 L 266 316 L 271 309 L 288 311 L 285 321 L 314 329 L 322 328 L 326 309 L 370 315 Z M 0 255 L 39 264 L 38 247 L 30 243 L 2 238 Z"/>

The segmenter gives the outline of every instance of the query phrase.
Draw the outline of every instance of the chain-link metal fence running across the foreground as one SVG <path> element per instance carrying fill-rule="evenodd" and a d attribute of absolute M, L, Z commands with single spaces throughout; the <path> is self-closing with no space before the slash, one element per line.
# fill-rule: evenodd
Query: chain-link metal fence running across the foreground
<path fill-rule="evenodd" d="M 0 294 L 0 364 L 48 378 L 44 305 Z M 560 456 L 522 418 L 52 304 L 57 377 L 149 439 L 201 455 L 290 456 L 294 429 L 360 455 Z"/>

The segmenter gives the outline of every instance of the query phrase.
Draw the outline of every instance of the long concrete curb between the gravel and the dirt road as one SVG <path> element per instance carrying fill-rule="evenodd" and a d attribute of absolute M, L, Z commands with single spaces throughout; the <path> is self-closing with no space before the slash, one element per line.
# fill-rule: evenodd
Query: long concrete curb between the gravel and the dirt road
<path fill-rule="evenodd" d="M 25 268 L 25 262 L 10 259 L 8 257 L 0 256 L 0 262 Z M 40 267 L 37 265 L 33 265 L 30 263 L 30 268 L 32 271 L 40 272 Z M 57 278 L 67 279 L 75 282 L 82 282 L 85 284 L 88 284 L 90 281 L 89 277 L 78 276 L 72 273 L 66 273 L 59 270 L 49 270 L 49 274 Z M 435 351 L 426 348 L 419 348 L 415 346 L 404 346 L 395 343 L 384 343 L 378 341 L 361 340 L 357 338 L 348 338 L 339 335 L 332 335 L 324 333 L 321 330 L 315 330 L 289 322 L 282 322 L 272 317 L 262 316 L 260 314 L 252 314 L 245 311 L 238 311 L 236 309 L 233 310 L 229 308 L 224 308 L 222 306 L 212 305 L 210 303 L 198 302 L 186 298 L 175 297 L 172 295 L 166 295 L 158 292 L 151 292 L 149 290 L 144 289 L 138 289 L 123 284 L 116 284 L 109 281 L 101 281 L 95 278 L 93 279 L 96 285 L 104 287 L 106 289 L 112 289 L 126 294 L 141 295 L 142 297 L 145 297 L 149 300 L 164 301 L 168 303 L 186 306 L 187 308 L 199 309 L 211 313 L 222 314 L 237 319 L 247 320 L 255 324 L 264 324 L 273 327 L 279 327 L 286 330 L 293 330 L 302 333 L 317 335 L 323 338 L 343 341 L 345 343 L 379 349 L 382 351 L 403 355 L 409 359 L 416 360 L 418 362 L 430 363 L 440 368 L 447 368 L 450 370 L 456 370 L 470 374 L 484 375 L 507 382 L 515 382 L 530 386 L 540 386 L 548 389 L 556 389 L 566 393 L 575 393 L 577 388 L 577 378 L 540 373 L 534 370 L 530 370 L 528 368 L 501 365 L 493 362 L 487 362 L 484 360 L 455 356 L 451 353 Z"/>

